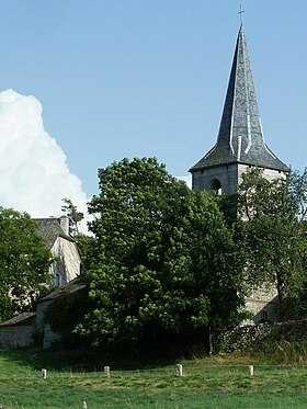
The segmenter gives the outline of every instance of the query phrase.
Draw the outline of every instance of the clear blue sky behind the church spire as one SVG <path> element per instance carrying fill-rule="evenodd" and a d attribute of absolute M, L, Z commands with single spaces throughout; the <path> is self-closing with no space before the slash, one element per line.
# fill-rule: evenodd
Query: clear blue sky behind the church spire
<path fill-rule="evenodd" d="M 307 166 L 307 1 L 247 0 L 264 138 Z M 216 140 L 239 30 L 232 0 L 0 0 L 0 91 L 34 95 L 87 196 L 98 168 L 157 157 L 185 175 Z"/>

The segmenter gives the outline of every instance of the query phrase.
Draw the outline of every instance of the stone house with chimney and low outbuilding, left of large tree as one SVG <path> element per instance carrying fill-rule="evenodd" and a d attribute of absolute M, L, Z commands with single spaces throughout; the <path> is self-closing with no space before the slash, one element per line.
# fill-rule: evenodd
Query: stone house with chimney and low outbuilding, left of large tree
<path fill-rule="evenodd" d="M 44 322 L 44 310 L 53 299 L 64 294 L 72 294 L 84 287 L 80 276 L 81 261 L 76 240 L 69 235 L 69 219 L 36 218 L 38 234 L 46 242 L 56 261 L 50 265 L 49 273 L 53 285 L 57 287 L 48 296 L 36 303 L 36 310 L 20 314 L 0 325 L 0 346 L 21 348 L 34 344 L 35 334 L 42 336 L 43 346 L 49 346 L 58 337 Z"/>

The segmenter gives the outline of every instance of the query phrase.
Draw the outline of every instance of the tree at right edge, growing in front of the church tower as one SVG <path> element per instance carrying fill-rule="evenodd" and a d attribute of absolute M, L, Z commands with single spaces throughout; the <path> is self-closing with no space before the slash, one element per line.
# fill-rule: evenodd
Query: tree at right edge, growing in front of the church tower
<path fill-rule="evenodd" d="M 254 285 L 274 285 L 281 318 L 285 300 L 299 288 L 306 272 L 306 174 L 269 181 L 260 169 L 243 173 L 239 216 L 247 274 Z"/>

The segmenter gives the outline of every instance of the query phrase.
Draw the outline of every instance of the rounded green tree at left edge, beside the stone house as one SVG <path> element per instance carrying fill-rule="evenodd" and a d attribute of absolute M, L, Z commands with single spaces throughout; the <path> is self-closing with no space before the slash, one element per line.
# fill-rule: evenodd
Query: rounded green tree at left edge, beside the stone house
<path fill-rule="evenodd" d="M 27 309 L 49 284 L 52 254 L 25 213 L 0 207 L 0 320 Z"/>

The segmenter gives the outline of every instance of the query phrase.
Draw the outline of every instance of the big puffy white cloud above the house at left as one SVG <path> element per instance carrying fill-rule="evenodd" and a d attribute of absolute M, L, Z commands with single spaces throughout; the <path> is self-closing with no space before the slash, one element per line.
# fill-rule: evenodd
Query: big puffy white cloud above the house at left
<path fill-rule="evenodd" d="M 13 90 L 0 92 L 0 205 L 32 217 L 60 216 L 64 197 L 87 212 L 80 179 L 44 129 L 39 101 Z"/>

